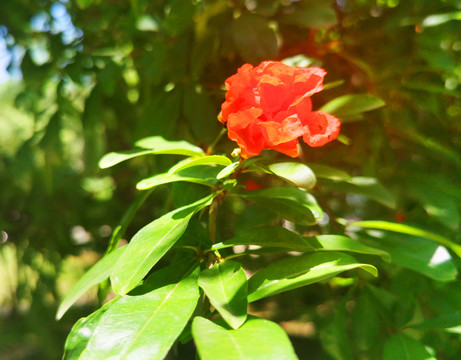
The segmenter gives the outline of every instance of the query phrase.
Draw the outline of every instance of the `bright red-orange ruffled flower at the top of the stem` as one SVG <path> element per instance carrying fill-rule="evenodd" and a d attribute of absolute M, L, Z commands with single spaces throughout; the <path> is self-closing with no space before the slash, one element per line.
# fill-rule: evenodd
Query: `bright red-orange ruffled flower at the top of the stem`
<path fill-rule="evenodd" d="M 312 147 L 336 139 L 340 122 L 323 111 L 312 111 L 310 96 L 323 89 L 326 71 L 292 67 L 279 61 L 243 65 L 226 80 L 226 101 L 219 120 L 237 142 L 243 158 L 273 149 L 298 156 L 298 138 Z"/>

